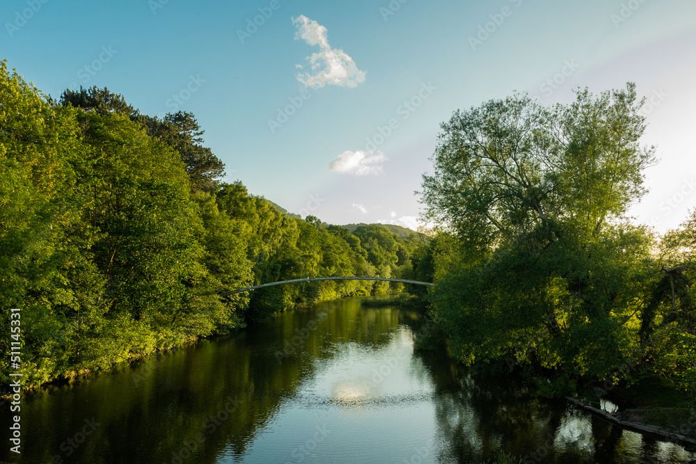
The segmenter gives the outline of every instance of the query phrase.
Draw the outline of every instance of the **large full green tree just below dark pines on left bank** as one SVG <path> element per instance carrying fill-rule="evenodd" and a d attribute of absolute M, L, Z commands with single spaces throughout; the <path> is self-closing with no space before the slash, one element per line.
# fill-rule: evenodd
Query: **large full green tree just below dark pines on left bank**
<path fill-rule="evenodd" d="M 90 247 L 106 278 L 107 319 L 99 337 L 129 334 L 122 356 L 209 334 L 226 311 L 207 295 L 203 221 L 177 153 L 119 113 L 79 115 L 90 147 L 84 217 L 101 237 Z M 113 333 L 109 332 L 113 330 Z M 104 342 L 106 345 L 106 342 Z"/>

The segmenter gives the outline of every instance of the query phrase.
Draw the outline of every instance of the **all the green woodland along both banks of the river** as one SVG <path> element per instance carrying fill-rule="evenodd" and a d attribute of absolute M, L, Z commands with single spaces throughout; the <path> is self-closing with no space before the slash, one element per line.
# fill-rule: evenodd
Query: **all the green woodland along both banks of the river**
<path fill-rule="evenodd" d="M 289 214 L 222 181 L 193 114 L 153 118 L 97 87 L 56 101 L 6 66 L 0 345 L 9 352 L 21 307 L 28 387 L 297 305 L 404 290 L 307 282 L 220 296 L 357 275 L 435 282 L 406 289 L 428 305 L 417 346 L 517 369 L 542 395 L 658 378 L 696 397 L 696 211 L 664 234 L 628 215 L 656 162 L 632 83 L 578 89 L 570 104 L 515 94 L 455 111 L 423 176 L 426 236 Z"/>

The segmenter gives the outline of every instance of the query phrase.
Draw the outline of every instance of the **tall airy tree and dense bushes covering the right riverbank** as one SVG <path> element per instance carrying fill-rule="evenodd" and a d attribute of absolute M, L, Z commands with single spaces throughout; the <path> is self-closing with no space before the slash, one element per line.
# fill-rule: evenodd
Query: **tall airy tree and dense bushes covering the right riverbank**
<path fill-rule="evenodd" d="M 576 97 L 514 95 L 443 123 L 422 192 L 439 234 L 413 259 L 435 275 L 429 335 L 548 394 L 654 374 L 693 390 L 696 216 L 661 240 L 633 225 L 654 161 L 635 86 Z"/>

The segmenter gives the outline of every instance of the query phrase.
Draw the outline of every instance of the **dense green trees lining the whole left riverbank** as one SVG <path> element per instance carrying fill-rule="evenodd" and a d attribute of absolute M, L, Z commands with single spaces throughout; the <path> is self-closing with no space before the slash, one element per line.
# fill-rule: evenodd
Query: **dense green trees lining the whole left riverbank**
<path fill-rule="evenodd" d="M 21 308 L 25 386 L 389 288 L 311 282 L 220 297 L 226 290 L 410 269 L 415 241 L 386 227 L 351 234 L 221 183 L 223 163 L 202 135 L 191 113 L 151 118 L 106 89 L 54 102 L 1 63 L 0 347 L 10 351 L 10 308 Z"/>

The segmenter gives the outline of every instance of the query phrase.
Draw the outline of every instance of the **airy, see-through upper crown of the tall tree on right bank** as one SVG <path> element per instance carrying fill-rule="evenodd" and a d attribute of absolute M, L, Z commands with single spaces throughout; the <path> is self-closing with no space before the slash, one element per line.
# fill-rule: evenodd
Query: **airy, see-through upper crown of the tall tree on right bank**
<path fill-rule="evenodd" d="M 424 176 L 427 216 L 484 248 L 560 222 L 599 232 L 622 217 L 654 160 L 638 142 L 642 103 L 633 84 L 576 95 L 551 108 L 514 95 L 456 111 Z"/>

